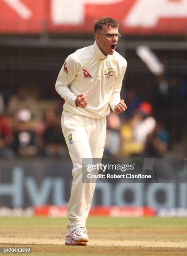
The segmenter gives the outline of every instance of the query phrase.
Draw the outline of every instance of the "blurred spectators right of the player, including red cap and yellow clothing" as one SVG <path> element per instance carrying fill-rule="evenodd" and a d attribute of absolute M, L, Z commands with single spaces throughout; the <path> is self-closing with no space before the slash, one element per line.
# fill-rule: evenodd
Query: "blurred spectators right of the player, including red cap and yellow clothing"
<path fill-rule="evenodd" d="M 126 91 L 127 110 L 107 117 L 106 156 L 165 157 L 170 136 L 153 116 L 153 106 Z"/>

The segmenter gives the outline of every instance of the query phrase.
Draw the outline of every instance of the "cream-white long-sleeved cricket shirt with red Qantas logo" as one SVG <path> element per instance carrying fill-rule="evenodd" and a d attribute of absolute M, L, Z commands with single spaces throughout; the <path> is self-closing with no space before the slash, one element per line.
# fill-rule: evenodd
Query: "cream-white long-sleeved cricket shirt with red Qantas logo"
<path fill-rule="evenodd" d="M 96 44 L 70 54 L 56 81 L 56 91 L 65 100 L 63 109 L 75 114 L 100 119 L 109 115 L 110 107 L 120 102 L 126 60 L 118 52 L 105 56 Z M 87 95 L 88 106 L 76 107 L 76 97 Z"/>

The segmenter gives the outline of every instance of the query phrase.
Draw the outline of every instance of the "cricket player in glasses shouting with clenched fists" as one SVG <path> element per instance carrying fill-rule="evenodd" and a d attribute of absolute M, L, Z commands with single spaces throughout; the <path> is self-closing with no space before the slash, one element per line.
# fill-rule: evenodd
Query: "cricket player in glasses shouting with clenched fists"
<path fill-rule="evenodd" d="M 110 107 L 114 114 L 126 110 L 120 91 L 127 64 L 115 51 L 119 23 L 101 17 L 94 28 L 94 44 L 67 57 L 55 85 L 65 100 L 62 131 L 73 163 L 66 245 L 88 242 L 86 219 L 96 184 L 82 182 L 82 159 L 102 158 Z"/>

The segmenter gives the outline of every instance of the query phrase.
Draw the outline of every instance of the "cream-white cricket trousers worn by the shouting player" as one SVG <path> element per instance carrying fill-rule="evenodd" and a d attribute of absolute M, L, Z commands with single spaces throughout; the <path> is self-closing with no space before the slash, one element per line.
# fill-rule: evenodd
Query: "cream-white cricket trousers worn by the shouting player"
<path fill-rule="evenodd" d="M 73 182 L 68 202 L 67 235 L 85 227 L 95 183 L 82 182 L 82 159 L 102 158 L 106 138 L 106 118 L 73 115 L 63 110 L 62 131 L 73 163 Z"/>

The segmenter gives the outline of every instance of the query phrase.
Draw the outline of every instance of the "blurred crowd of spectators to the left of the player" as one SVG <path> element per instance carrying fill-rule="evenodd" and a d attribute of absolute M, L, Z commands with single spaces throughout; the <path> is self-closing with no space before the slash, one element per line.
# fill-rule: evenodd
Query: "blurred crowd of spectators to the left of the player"
<path fill-rule="evenodd" d="M 67 155 L 61 131 L 61 109 L 54 101 L 47 100 L 42 107 L 25 86 L 19 87 L 6 105 L 0 95 L 1 158 Z"/>

